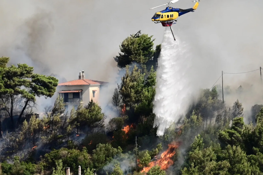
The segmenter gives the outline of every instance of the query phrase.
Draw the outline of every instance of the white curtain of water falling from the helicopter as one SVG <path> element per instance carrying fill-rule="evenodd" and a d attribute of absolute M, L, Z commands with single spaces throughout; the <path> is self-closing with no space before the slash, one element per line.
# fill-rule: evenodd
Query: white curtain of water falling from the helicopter
<path fill-rule="evenodd" d="M 156 94 L 153 112 L 156 115 L 154 127 L 158 127 L 157 135 L 164 134 L 165 129 L 185 115 L 192 101 L 194 84 L 190 81 L 192 69 L 191 57 L 186 44 L 178 36 L 176 41 L 169 27 L 166 27 L 161 53 L 158 59 L 156 76 Z"/>

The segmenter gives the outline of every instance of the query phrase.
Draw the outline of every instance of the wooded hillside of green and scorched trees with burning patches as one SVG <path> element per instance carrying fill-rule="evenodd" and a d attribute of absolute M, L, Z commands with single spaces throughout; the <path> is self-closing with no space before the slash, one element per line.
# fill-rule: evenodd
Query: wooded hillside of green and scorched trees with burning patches
<path fill-rule="evenodd" d="M 263 105 L 251 107 L 252 122 L 245 124 L 242 104 L 237 99 L 227 106 L 217 86 L 200 89 L 184 122 L 156 136 L 153 99 L 161 45 L 154 49 L 153 41 L 139 31 L 120 45 L 114 59 L 126 72 L 112 94 L 118 115 L 108 123 L 97 103 L 65 113 L 59 98 L 40 118 L 32 112 L 36 97 L 54 96 L 58 80 L 0 58 L 0 175 L 64 175 L 65 167 L 77 174 L 78 166 L 85 175 L 263 174 Z"/>

